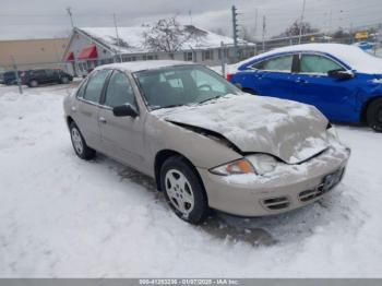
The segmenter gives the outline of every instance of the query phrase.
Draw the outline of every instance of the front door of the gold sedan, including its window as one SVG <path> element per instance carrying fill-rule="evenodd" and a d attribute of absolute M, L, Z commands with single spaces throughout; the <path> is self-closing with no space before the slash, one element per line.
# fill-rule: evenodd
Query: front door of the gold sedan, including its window
<path fill-rule="evenodd" d="M 144 118 L 116 117 L 112 108 L 130 104 L 139 111 L 135 94 L 128 76 L 114 71 L 106 88 L 103 107 L 98 115 L 103 151 L 116 159 L 146 172 L 143 142 Z"/>

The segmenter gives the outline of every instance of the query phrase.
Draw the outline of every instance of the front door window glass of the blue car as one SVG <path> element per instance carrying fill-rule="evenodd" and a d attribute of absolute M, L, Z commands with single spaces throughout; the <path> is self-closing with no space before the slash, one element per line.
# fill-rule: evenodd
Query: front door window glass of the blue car
<path fill-rule="evenodd" d="M 324 73 L 329 71 L 344 70 L 342 65 L 335 61 L 319 55 L 302 55 L 300 60 L 301 73 Z"/>

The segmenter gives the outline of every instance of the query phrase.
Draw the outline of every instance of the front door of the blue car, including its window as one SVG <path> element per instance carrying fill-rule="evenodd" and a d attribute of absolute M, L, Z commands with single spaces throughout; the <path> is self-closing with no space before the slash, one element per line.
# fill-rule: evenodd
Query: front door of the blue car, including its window
<path fill-rule="evenodd" d="M 329 76 L 329 71 L 346 68 L 325 55 L 301 53 L 299 63 L 291 99 L 315 106 L 331 120 L 359 121 L 357 76 L 347 80 Z"/>

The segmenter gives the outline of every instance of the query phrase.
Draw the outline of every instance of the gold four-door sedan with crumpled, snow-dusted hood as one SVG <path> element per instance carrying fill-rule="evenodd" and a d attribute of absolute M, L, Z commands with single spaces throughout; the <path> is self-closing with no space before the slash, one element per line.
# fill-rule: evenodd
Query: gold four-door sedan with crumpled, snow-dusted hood
<path fill-rule="evenodd" d="M 314 107 L 242 93 L 177 61 L 103 65 L 64 99 L 73 148 L 153 177 L 198 224 L 210 208 L 263 216 L 312 203 L 343 178 L 349 148 Z"/>

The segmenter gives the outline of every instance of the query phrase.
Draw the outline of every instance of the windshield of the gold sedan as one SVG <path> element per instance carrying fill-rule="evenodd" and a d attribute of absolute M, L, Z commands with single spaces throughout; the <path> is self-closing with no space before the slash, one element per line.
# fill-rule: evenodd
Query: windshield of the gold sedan
<path fill-rule="evenodd" d="M 240 90 L 203 65 L 179 65 L 134 73 L 150 109 L 193 105 Z"/>

